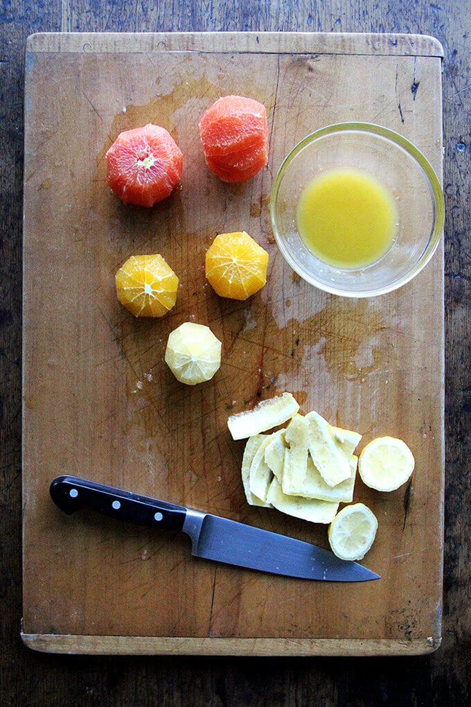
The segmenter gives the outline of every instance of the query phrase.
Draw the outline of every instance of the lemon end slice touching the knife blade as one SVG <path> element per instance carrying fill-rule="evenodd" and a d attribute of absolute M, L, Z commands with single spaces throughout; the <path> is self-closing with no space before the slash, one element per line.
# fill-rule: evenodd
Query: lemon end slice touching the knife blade
<path fill-rule="evenodd" d="M 330 547 L 342 560 L 362 560 L 374 542 L 376 530 L 376 515 L 364 503 L 353 503 L 342 508 L 330 523 Z"/>

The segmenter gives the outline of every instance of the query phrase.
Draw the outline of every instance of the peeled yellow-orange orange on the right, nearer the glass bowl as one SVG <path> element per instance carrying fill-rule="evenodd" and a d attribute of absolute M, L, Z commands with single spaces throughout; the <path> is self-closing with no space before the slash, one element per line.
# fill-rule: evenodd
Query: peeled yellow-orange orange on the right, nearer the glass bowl
<path fill-rule="evenodd" d="M 268 253 L 245 231 L 217 235 L 206 252 L 206 279 L 220 297 L 246 300 L 266 284 Z"/>

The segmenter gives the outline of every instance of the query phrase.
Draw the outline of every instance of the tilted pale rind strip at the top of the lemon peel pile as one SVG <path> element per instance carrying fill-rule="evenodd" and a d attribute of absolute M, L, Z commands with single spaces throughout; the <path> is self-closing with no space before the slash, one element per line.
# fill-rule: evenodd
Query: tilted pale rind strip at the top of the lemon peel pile
<path fill-rule="evenodd" d="M 299 410 L 291 393 L 262 400 L 252 410 L 231 415 L 227 420 L 229 432 L 234 440 L 242 440 L 278 427 Z"/>

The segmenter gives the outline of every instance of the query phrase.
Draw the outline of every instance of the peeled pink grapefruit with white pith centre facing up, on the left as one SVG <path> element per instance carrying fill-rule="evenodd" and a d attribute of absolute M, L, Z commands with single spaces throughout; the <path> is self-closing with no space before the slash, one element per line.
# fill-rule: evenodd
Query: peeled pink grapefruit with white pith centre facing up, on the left
<path fill-rule="evenodd" d="M 159 125 L 121 132 L 106 158 L 108 185 L 124 204 L 153 206 L 181 180 L 183 155 Z"/>

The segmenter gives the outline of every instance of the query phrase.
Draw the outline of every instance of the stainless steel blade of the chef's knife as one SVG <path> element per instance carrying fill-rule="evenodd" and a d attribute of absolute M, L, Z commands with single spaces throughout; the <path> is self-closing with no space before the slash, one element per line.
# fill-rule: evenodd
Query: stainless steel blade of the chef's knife
<path fill-rule="evenodd" d="M 340 560 L 309 542 L 188 510 L 183 527 L 192 554 L 229 565 L 328 582 L 365 582 L 380 576 L 356 562 Z"/>

